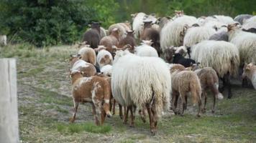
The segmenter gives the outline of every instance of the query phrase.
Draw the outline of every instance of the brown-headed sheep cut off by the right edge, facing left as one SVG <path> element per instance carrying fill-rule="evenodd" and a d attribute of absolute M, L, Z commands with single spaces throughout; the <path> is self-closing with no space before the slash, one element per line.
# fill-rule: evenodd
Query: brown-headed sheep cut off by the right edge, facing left
<path fill-rule="evenodd" d="M 252 82 L 252 86 L 256 89 L 256 66 L 252 63 L 244 65 L 244 72 L 242 73 L 242 79 L 249 78 Z"/>

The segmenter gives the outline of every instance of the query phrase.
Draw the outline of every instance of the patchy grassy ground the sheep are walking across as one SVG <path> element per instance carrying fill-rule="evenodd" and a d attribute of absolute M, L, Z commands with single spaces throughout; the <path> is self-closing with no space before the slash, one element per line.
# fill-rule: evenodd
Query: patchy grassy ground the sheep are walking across
<path fill-rule="evenodd" d="M 150 134 L 149 122 L 136 115 L 135 127 L 122 124 L 116 114 L 102 127 L 93 123 L 91 104 L 73 113 L 71 83 L 68 76 L 70 54 L 78 49 L 55 46 L 37 49 L 29 44 L 0 47 L 0 58 L 17 59 L 19 134 L 21 142 L 255 142 L 256 90 L 232 85 L 233 97 L 217 101 L 211 113 L 211 94 L 206 114 L 196 117 L 197 106 L 188 101 L 184 117 L 166 112 L 157 134 Z"/>

